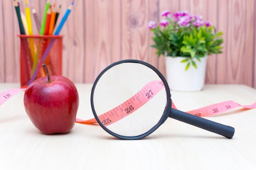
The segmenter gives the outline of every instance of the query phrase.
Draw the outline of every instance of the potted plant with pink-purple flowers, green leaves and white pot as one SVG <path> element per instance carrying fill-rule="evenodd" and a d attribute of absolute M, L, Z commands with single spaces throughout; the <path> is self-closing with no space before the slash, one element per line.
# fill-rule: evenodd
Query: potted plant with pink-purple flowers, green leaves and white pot
<path fill-rule="evenodd" d="M 204 86 L 207 56 L 222 53 L 222 32 L 217 32 L 201 15 L 187 11 L 171 14 L 163 11 L 160 23 L 150 21 L 153 48 L 166 59 L 166 75 L 170 88 L 177 91 L 200 91 Z"/>

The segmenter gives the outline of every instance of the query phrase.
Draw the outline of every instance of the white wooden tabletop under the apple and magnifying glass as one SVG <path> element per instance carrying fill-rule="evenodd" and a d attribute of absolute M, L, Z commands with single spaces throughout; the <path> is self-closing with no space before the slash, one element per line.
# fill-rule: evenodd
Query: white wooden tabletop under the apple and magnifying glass
<path fill-rule="evenodd" d="M 92 84 L 76 84 L 78 118 L 93 117 Z M 0 84 L 0 92 L 19 84 Z M 256 102 L 256 90 L 244 85 L 206 85 L 200 92 L 171 92 L 180 110 L 217 102 Z M 65 135 L 43 135 L 31 123 L 20 92 L 0 106 L 0 170 L 250 170 L 256 169 L 256 109 L 237 108 L 207 119 L 233 126 L 233 139 L 168 119 L 137 141 L 112 137 L 99 125 L 76 124 Z"/>

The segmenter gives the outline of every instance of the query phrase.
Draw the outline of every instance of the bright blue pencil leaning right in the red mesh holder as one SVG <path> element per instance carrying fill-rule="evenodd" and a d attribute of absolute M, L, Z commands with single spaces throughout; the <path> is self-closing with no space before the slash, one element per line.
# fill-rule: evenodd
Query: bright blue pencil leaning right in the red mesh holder
<path fill-rule="evenodd" d="M 60 33 L 60 31 L 61 31 L 61 29 L 62 29 L 62 27 L 63 27 L 63 24 L 65 23 L 65 21 L 67 20 L 68 15 L 70 14 L 70 11 L 71 11 L 71 9 L 72 9 L 73 4 L 74 4 L 74 2 L 72 2 L 71 5 L 70 5 L 70 7 L 68 7 L 68 9 L 67 9 L 65 15 L 63 16 L 63 18 L 62 18 L 62 20 L 61 20 L 61 23 L 59 24 L 59 26 L 58 26 L 57 30 L 55 31 L 54 35 L 58 35 L 58 34 Z M 40 62 L 39 62 L 38 65 L 36 66 L 36 69 L 35 69 L 35 71 L 34 71 L 32 77 L 31 77 L 31 79 L 29 80 L 29 83 L 28 83 L 28 84 L 31 84 L 31 83 L 36 79 L 36 75 L 37 75 L 37 73 L 38 73 L 38 71 L 39 71 L 39 68 L 41 68 L 42 64 L 45 62 L 45 60 L 46 60 L 46 58 L 47 58 L 47 55 L 49 54 L 49 52 L 50 52 L 50 50 L 51 50 L 51 48 L 52 48 L 52 46 L 53 46 L 53 44 L 54 44 L 54 41 L 55 41 L 55 39 L 52 39 L 52 40 L 49 42 L 47 48 L 45 49 L 45 52 L 43 53 L 43 56 L 42 56 Z"/>

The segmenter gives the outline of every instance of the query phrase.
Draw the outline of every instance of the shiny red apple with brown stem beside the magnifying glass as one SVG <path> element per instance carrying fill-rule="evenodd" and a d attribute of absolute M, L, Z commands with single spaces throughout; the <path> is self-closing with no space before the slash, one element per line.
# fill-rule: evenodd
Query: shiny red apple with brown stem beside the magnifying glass
<path fill-rule="evenodd" d="M 47 76 L 32 82 L 24 95 L 29 119 L 41 132 L 67 133 L 75 124 L 79 96 L 74 83 L 63 76 Z"/>

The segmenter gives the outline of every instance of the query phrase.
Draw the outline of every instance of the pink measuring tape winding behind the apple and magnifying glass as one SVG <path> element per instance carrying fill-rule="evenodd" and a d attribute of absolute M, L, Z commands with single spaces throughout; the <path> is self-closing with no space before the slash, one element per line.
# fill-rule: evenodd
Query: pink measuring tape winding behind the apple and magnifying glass
<path fill-rule="evenodd" d="M 143 88 L 141 88 L 139 92 L 137 92 L 135 95 L 130 97 L 128 100 L 126 100 L 119 106 L 112 108 L 111 110 L 109 110 L 106 113 L 103 113 L 102 115 L 99 115 L 98 116 L 99 120 L 105 126 L 113 124 L 116 121 L 119 121 L 120 119 L 123 119 L 124 117 L 135 112 L 138 108 L 146 104 L 150 99 L 152 99 L 155 95 L 157 95 L 157 93 L 161 91 L 163 88 L 164 88 L 164 84 L 162 81 L 149 82 Z M 7 100 L 9 100 L 14 95 L 18 94 L 20 91 L 25 91 L 25 90 L 26 88 L 13 88 L 0 93 L 0 105 L 2 105 L 4 102 L 7 102 Z M 211 115 L 223 113 L 225 111 L 232 110 L 238 107 L 243 107 L 247 109 L 256 108 L 256 102 L 252 105 L 240 105 L 232 100 L 229 100 L 226 102 L 220 102 L 217 104 L 212 104 L 209 106 L 191 110 L 186 113 L 189 113 L 195 116 L 204 117 L 204 116 L 211 116 Z M 172 108 L 176 109 L 173 102 L 172 102 Z M 76 122 L 81 124 L 97 123 L 95 118 L 89 119 L 89 120 L 81 120 L 76 118 Z"/>

